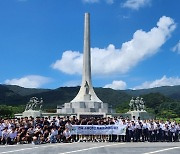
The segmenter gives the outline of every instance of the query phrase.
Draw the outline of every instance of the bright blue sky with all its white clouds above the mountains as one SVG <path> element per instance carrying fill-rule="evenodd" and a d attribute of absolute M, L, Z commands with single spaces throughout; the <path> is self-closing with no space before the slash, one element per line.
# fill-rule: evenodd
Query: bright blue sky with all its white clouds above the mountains
<path fill-rule="evenodd" d="M 95 87 L 180 85 L 179 6 L 179 0 L 0 0 L 0 83 L 80 85 L 89 12 Z"/>

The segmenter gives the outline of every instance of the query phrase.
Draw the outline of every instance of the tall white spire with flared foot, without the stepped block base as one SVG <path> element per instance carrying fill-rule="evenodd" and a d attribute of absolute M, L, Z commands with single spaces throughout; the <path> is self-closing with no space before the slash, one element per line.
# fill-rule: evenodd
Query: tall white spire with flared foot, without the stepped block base
<path fill-rule="evenodd" d="M 91 81 L 91 51 L 90 51 L 90 14 L 84 18 L 84 49 L 81 88 L 71 102 L 93 101 L 102 102 L 95 94 Z"/>

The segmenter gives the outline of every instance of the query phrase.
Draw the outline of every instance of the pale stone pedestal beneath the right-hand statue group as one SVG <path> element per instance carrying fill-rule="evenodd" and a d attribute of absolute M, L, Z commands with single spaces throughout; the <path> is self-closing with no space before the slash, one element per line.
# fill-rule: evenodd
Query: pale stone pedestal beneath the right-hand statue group
<path fill-rule="evenodd" d="M 150 115 L 146 111 L 129 111 L 126 114 L 131 119 L 133 119 L 133 116 L 135 116 L 135 119 L 140 117 L 141 120 L 148 120 L 148 119 L 153 119 L 154 118 L 153 115 Z"/>

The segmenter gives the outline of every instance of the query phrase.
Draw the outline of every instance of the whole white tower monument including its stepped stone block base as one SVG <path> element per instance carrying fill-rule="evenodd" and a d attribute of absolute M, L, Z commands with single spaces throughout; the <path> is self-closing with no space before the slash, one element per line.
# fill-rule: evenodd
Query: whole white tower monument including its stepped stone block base
<path fill-rule="evenodd" d="M 59 113 L 108 113 L 108 105 L 95 94 L 91 81 L 91 51 L 90 51 L 90 14 L 85 13 L 84 20 L 84 51 L 81 88 L 77 96 L 65 103 Z"/>

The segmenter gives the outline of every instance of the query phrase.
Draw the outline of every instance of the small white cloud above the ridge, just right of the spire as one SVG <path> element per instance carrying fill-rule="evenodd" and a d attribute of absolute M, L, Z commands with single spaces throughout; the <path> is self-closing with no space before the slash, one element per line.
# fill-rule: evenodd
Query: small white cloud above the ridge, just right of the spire
<path fill-rule="evenodd" d="M 124 81 L 113 81 L 111 84 L 107 84 L 104 86 L 104 88 L 111 88 L 111 89 L 114 89 L 114 90 L 124 90 L 126 89 L 127 85 L 126 85 L 126 82 Z"/>

